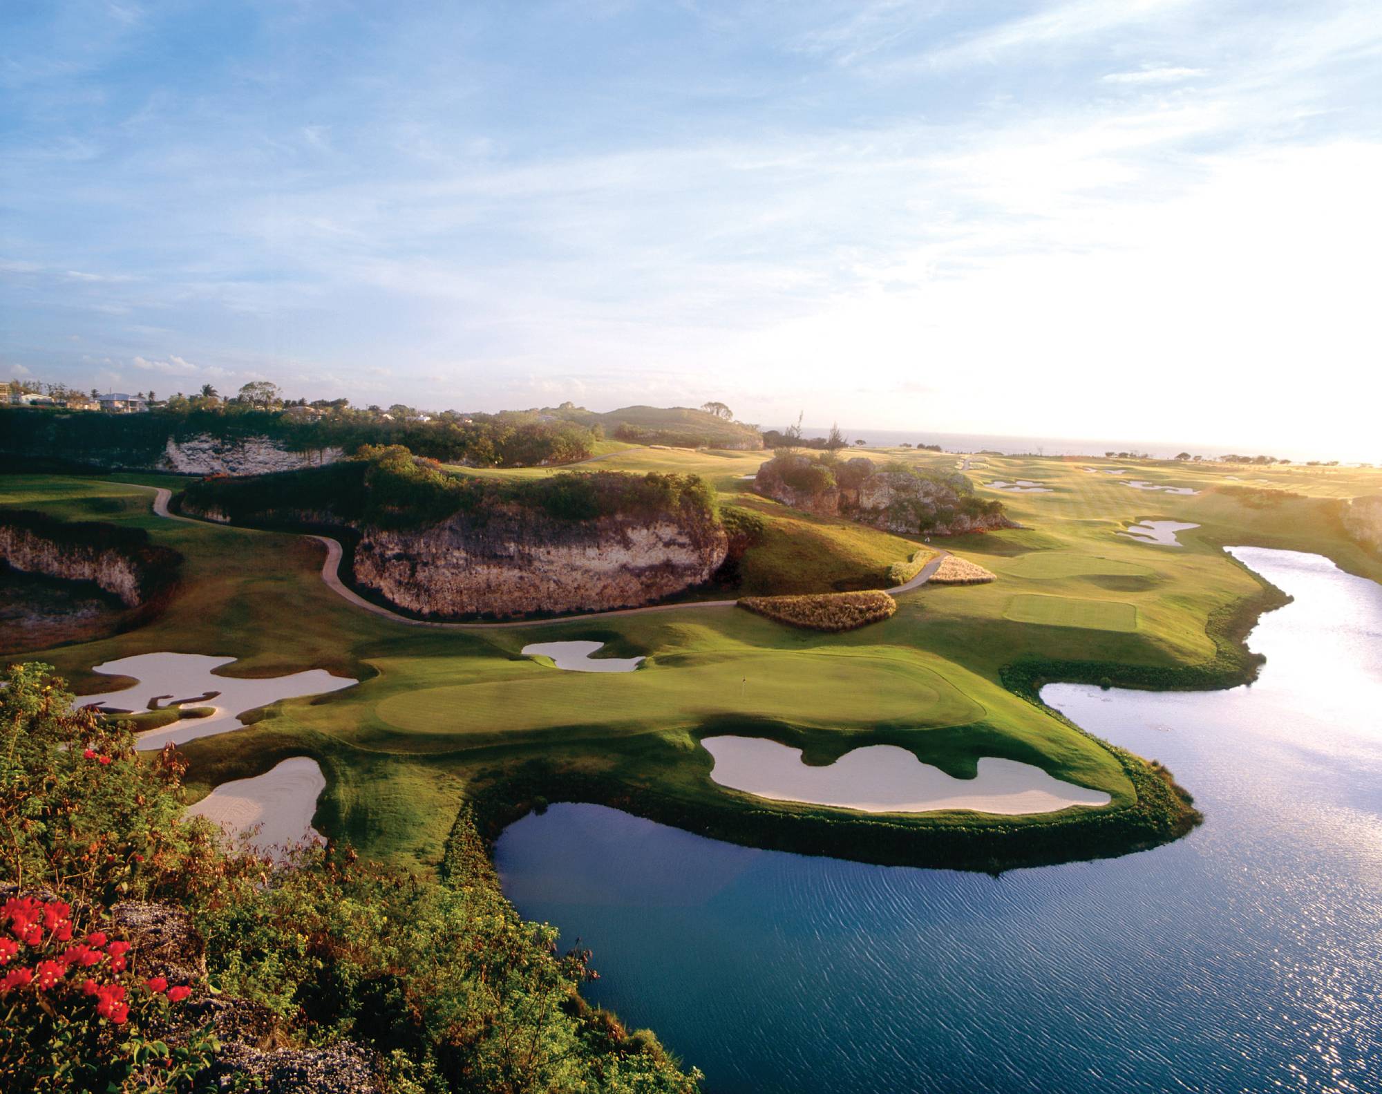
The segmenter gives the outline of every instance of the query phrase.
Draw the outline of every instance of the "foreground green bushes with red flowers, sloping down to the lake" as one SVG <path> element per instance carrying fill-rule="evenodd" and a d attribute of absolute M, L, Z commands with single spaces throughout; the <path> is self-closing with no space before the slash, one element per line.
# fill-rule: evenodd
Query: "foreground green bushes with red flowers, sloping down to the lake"
<path fill-rule="evenodd" d="M 554 931 L 517 916 L 468 815 L 437 877 L 348 851 L 275 866 L 180 822 L 176 749 L 135 753 L 127 729 L 73 710 L 47 666 L 12 666 L 4 682 L 0 885 L 15 902 L 0 924 L 12 939 L 0 942 L 4 1088 L 206 1080 L 214 1040 L 169 1013 L 188 993 L 131 979 L 146 975 L 138 946 L 101 931 L 133 898 L 191 914 L 223 1000 L 267 1008 L 281 1042 L 375 1050 L 388 1090 L 697 1088 L 651 1033 L 580 999 L 587 956 L 560 954 Z M 193 985 L 192 1001 L 206 990 Z"/>

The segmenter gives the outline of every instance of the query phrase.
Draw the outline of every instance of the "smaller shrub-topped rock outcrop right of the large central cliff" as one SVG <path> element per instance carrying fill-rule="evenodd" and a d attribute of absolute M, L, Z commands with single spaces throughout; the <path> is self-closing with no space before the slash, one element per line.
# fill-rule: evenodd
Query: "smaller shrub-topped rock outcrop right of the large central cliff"
<path fill-rule="evenodd" d="M 753 489 L 806 512 L 900 535 L 959 536 L 1014 526 L 1001 503 L 974 497 L 958 475 L 879 468 L 862 456 L 831 463 L 782 453 L 759 468 Z"/>

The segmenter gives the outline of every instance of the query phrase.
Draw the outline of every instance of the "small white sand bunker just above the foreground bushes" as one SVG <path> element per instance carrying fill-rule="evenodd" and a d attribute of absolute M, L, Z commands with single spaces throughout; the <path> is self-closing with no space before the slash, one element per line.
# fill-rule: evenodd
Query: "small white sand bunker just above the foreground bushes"
<path fill-rule="evenodd" d="M 261 854 L 282 852 L 300 844 L 325 843 L 312 827 L 316 798 L 326 778 L 315 760 L 294 756 L 253 779 L 221 783 L 184 816 L 205 816 L 232 840 L 245 840 Z M 258 832 L 250 829 L 258 827 Z"/>

